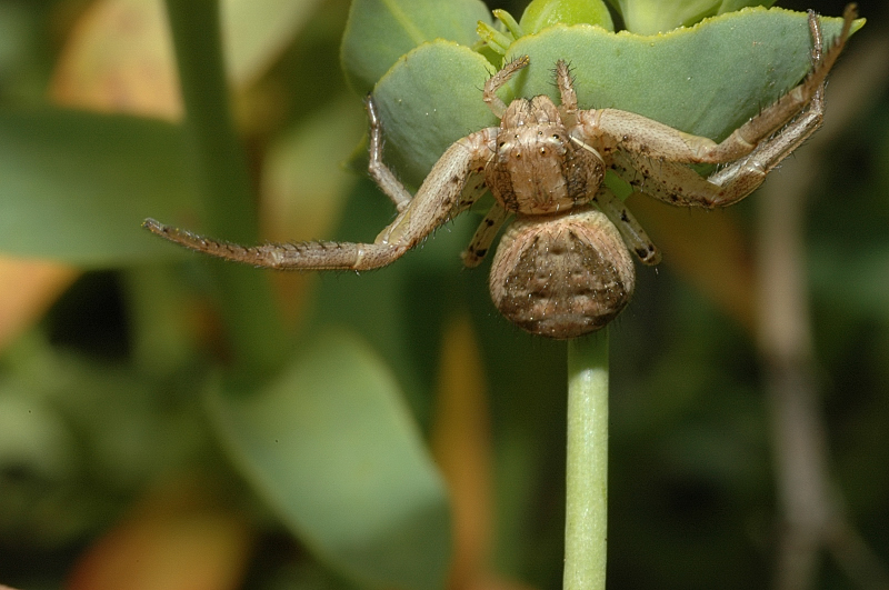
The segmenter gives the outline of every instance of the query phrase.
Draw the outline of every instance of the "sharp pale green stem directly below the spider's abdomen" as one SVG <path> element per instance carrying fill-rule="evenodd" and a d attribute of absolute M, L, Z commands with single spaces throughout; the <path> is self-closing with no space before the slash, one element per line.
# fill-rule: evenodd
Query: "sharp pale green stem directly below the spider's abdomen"
<path fill-rule="evenodd" d="M 568 342 L 565 590 L 603 590 L 608 532 L 608 332 Z"/>

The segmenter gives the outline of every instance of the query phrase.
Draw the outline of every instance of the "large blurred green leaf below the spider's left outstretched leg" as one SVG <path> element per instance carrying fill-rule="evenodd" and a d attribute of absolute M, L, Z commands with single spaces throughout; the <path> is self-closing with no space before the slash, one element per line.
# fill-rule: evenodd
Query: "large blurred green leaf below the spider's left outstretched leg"
<path fill-rule="evenodd" d="M 318 557 L 371 587 L 443 588 L 443 482 L 361 341 L 328 332 L 264 391 L 209 402 L 234 461 Z"/>

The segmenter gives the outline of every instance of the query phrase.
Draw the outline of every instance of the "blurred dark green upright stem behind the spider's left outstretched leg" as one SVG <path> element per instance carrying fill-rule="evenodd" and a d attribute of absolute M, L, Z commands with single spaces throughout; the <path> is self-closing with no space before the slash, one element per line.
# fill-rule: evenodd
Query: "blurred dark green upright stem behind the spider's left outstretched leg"
<path fill-rule="evenodd" d="M 240 243 L 257 241 L 256 199 L 229 104 L 218 0 L 167 0 L 186 124 L 201 173 L 206 230 Z M 268 278 L 212 262 L 236 372 L 268 374 L 280 367 L 287 334 Z"/>

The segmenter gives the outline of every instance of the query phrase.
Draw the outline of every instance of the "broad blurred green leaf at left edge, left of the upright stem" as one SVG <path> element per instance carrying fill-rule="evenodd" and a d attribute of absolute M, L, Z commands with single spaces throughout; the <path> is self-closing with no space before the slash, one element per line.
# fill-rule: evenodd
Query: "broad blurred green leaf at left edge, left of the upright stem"
<path fill-rule="evenodd" d="M 182 129 L 76 111 L 0 114 L 0 251 L 88 267 L 176 256 L 140 223 L 197 219 Z"/>

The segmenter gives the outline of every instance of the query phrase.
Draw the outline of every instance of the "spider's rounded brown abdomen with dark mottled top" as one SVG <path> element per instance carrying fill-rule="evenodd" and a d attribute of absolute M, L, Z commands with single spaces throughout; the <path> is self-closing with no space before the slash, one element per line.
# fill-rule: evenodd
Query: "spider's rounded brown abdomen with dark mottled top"
<path fill-rule="evenodd" d="M 636 271 L 617 228 L 600 211 L 518 219 L 491 266 L 495 306 L 531 333 L 575 338 L 627 306 Z"/>

